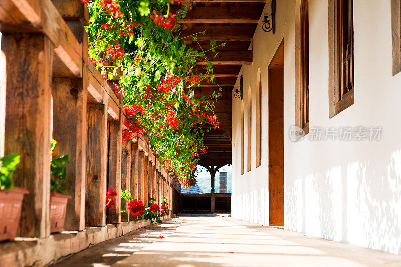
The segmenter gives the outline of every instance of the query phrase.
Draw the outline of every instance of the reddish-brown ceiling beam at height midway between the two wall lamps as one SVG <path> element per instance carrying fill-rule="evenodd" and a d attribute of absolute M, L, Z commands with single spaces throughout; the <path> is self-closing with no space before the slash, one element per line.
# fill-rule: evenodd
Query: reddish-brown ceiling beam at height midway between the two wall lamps
<path fill-rule="evenodd" d="M 249 65 L 252 64 L 253 61 L 253 54 L 252 50 L 247 51 L 220 51 L 217 53 L 215 52 L 206 52 L 206 58 L 212 62 L 214 65 Z M 206 62 L 202 58 L 198 58 L 198 65 L 206 65 Z"/>

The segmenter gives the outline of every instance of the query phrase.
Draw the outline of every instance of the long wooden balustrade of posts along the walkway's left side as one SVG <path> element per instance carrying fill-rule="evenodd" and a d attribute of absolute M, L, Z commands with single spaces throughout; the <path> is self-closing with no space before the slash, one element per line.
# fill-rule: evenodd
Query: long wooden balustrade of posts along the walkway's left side
<path fill-rule="evenodd" d="M 68 154 L 65 230 L 137 220 L 121 214 L 120 189 L 179 212 L 181 189 L 149 149 L 146 136 L 122 142 L 124 111 L 88 57 L 88 8 L 80 0 L 2 0 L 6 56 L 5 154 L 18 153 L 15 186 L 24 187 L 19 236 L 50 235 L 50 140 Z M 29 12 L 27 12 L 29 11 Z M 52 110 L 53 109 L 53 110 Z M 51 128 L 53 127 L 53 128 Z M 105 193 L 118 195 L 105 208 Z"/>

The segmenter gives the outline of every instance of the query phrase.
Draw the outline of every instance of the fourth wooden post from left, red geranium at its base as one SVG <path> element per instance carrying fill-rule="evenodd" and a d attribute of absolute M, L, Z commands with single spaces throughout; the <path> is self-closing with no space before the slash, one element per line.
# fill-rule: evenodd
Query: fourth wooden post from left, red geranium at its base
<path fill-rule="evenodd" d="M 108 187 L 117 192 L 114 197 L 114 205 L 108 209 L 107 223 L 120 223 L 121 213 L 121 150 L 122 150 L 122 125 L 120 112 L 119 121 L 109 121 L 109 153 L 108 153 Z"/>

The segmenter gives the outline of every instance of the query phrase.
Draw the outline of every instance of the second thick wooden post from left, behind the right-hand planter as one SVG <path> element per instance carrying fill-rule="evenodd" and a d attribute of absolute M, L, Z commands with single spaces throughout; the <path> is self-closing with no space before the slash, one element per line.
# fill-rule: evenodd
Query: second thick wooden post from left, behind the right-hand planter
<path fill-rule="evenodd" d="M 88 25 L 86 5 L 76 0 L 52 0 L 66 24 L 82 45 L 82 77 L 70 78 L 69 73 L 58 70 L 53 77 L 53 139 L 57 145 L 53 157 L 68 155 L 67 181 L 63 186 L 71 199 L 67 202 L 64 229 L 85 229 L 85 173 L 88 87 Z M 64 75 L 63 75 L 64 74 Z"/>

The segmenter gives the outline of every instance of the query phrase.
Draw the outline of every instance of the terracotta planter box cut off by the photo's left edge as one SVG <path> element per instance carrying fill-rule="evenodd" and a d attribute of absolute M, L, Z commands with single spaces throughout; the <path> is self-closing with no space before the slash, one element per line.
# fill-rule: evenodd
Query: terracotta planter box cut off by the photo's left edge
<path fill-rule="evenodd" d="M 29 191 L 14 187 L 0 190 L 0 241 L 13 240 L 20 222 L 22 199 Z"/>

